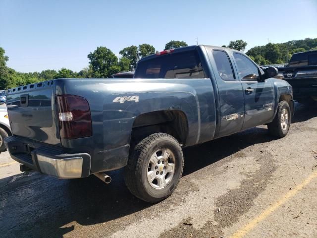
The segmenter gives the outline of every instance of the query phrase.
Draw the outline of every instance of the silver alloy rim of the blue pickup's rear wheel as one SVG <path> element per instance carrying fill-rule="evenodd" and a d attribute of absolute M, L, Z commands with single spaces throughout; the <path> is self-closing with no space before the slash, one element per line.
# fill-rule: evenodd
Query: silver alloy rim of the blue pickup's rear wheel
<path fill-rule="evenodd" d="M 170 149 L 159 149 L 152 154 L 147 171 L 147 178 L 152 187 L 163 189 L 171 182 L 174 173 L 175 156 Z"/>

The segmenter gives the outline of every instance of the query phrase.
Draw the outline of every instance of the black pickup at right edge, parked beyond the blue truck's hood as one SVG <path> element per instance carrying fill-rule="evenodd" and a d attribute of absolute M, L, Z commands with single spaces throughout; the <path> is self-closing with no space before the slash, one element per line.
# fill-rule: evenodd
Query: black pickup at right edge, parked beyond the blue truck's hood
<path fill-rule="evenodd" d="M 293 97 L 300 103 L 317 101 L 317 51 L 296 53 L 286 67 L 278 68 L 277 78 L 293 86 Z"/>

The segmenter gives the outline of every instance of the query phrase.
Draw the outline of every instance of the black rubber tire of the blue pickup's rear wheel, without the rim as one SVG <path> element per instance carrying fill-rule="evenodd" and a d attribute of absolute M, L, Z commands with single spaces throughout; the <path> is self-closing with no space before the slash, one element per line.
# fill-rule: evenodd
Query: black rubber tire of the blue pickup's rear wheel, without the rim
<path fill-rule="evenodd" d="M 175 167 L 170 181 L 166 183 L 167 185 L 157 189 L 153 187 L 155 186 L 153 185 L 154 183 L 151 184 L 148 180 L 148 171 L 150 169 L 149 163 L 151 157 L 159 150 L 169 150 L 172 152 Z M 168 164 L 168 162 L 166 164 Z M 128 164 L 125 167 L 125 184 L 136 197 L 149 203 L 157 203 L 168 197 L 176 188 L 182 176 L 183 167 L 183 151 L 178 141 L 169 134 L 155 133 L 143 139 L 131 150 Z M 165 173 L 167 176 L 168 172 L 164 172 L 163 175 L 165 175 Z M 166 176 L 163 177 L 166 178 Z"/>

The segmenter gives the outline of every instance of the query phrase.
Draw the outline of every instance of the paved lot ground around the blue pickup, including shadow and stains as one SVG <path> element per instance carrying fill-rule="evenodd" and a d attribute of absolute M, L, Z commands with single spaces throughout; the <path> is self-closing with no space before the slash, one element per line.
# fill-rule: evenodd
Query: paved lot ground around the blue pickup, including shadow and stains
<path fill-rule="evenodd" d="M 23 176 L 0 154 L 0 237 L 317 238 L 317 107 L 299 105 L 289 134 L 266 126 L 186 148 L 173 195 L 133 197 L 122 171 L 95 177 Z"/>

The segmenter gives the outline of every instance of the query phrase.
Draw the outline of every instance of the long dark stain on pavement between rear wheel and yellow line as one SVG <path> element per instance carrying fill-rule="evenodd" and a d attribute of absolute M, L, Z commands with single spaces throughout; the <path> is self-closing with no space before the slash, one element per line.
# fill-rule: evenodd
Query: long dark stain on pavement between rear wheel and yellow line
<path fill-rule="evenodd" d="M 238 155 L 239 156 L 239 155 Z M 184 237 L 184 238 L 219 238 L 223 236 L 222 229 L 239 220 L 239 217 L 249 211 L 254 206 L 254 199 L 264 191 L 277 167 L 271 153 L 265 150 L 257 152 L 257 161 L 261 165 L 260 169 L 250 173 L 243 179 L 239 188 L 230 189 L 215 201 L 214 220 L 208 221 L 202 229 L 195 229 L 191 223 L 191 218 L 183 220 L 175 228 L 165 231 L 160 235 L 164 237 Z"/>

